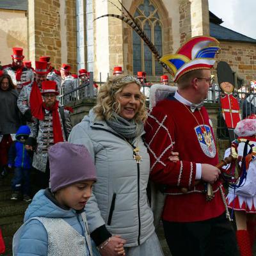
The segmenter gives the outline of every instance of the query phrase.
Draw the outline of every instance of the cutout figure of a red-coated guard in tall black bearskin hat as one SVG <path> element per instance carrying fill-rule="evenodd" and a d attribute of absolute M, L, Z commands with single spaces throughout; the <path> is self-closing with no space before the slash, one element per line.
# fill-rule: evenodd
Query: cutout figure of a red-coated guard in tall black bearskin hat
<path fill-rule="evenodd" d="M 235 129 L 241 120 L 241 111 L 236 97 L 234 97 L 234 76 L 232 69 L 225 61 L 217 65 L 218 83 L 221 88 L 221 109 L 222 115 L 228 129 Z"/>

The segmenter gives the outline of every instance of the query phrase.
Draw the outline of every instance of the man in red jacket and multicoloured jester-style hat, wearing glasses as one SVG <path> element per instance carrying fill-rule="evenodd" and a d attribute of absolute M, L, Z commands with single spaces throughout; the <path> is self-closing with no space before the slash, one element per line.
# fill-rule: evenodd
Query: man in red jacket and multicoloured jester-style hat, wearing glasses
<path fill-rule="evenodd" d="M 172 69 L 178 90 L 156 104 L 145 125 L 150 179 L 166 187 L 162 218 L 173 256 L 230 256 L 237 251 L 215 167 L 212 123 L 202 106 L 212 84 L 209 69 L 217 45 L 215 38 L 196 36 L 177 54 L 161 58 Z M 169 161 L 172 151 L 179 152 L 180 161 Z"/>

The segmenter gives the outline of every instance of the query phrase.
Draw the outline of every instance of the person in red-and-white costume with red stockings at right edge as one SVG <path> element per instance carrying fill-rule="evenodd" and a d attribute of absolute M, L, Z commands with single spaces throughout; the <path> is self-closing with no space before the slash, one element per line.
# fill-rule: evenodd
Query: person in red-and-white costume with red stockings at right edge
<path fill-rule="evenodd" d="M 227 204 L 235 212 L 240 255 L 252 256 L 256 226 L 256 115 L 238 122 L 234 132 L 238 138 L 233 141 L 232 147 L 236 147 L 238 159 L 241 160 L 238 168 L 246 169 L 246 179 L 241 181 L 240 177 L 237 182 L 239 186 L 229 189 Z M 225 157 L 229 154 L 230 148 L 226 150 Z"/>

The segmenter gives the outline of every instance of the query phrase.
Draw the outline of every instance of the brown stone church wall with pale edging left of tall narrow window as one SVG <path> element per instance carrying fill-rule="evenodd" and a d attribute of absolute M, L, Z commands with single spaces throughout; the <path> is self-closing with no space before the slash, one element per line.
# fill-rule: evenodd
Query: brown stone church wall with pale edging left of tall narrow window
<path fill-rule="evenodd" d="M 47 55 L 52 66 L 76 72 L 75 0 L 29 0 L 29 52 L 32 61 Z"/>

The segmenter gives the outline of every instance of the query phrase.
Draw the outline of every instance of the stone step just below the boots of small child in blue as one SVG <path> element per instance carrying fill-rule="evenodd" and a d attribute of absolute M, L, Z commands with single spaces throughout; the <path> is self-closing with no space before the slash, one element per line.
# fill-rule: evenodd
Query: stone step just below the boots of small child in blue
<path fill-rule="evenodd" d="M 24 201 L 5 200 L 0 201 L 0 218 L 24 214 L 28 203 Z"/>

